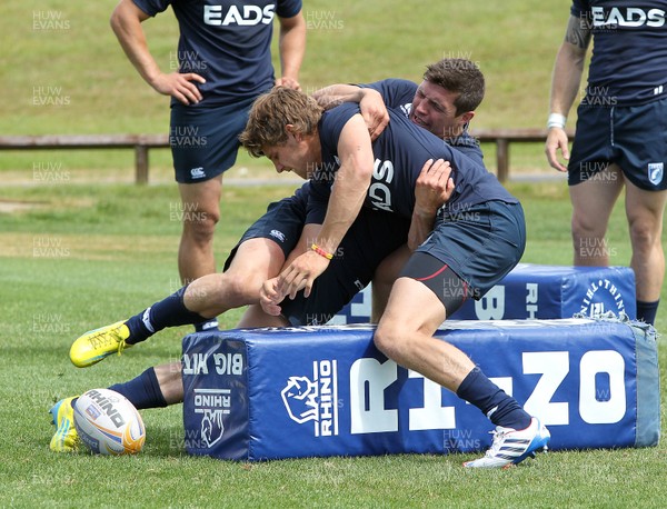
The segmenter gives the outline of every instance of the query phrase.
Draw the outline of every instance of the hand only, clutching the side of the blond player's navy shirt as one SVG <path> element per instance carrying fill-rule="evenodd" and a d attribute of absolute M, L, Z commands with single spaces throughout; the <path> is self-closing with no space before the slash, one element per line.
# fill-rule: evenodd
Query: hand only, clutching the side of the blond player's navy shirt
<path fill-rule="evenodd" d="M 429 159 L 424 163 L 415 184 L 415 211 L 421 216 L 436 216 L 454 192 L 449 161 Z"/>

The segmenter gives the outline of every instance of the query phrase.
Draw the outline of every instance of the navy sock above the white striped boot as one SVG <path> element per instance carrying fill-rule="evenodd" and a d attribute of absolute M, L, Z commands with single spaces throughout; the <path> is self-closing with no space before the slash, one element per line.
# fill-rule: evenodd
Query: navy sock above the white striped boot
<path fill-rule="evenodd" d="M 512 429 L 530 426 L 530 415 L 516 399 L 489 380 L 479 368 L 468 373 L 456 395 L 479 408 L 496 426 Z"/>

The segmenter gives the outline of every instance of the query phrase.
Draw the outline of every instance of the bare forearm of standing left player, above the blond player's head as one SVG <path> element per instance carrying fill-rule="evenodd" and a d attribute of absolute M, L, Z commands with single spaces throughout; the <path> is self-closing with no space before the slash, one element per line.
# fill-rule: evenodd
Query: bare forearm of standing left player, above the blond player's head
<path fill-rule="evenodd" d="M 299 71 L 306 53 L 306 20 L 301 11 L 291 18 L 278 19 L 280 22 L 278 49 L 281 78 L 276 80 L 276 86 L 301 90 Z"/>

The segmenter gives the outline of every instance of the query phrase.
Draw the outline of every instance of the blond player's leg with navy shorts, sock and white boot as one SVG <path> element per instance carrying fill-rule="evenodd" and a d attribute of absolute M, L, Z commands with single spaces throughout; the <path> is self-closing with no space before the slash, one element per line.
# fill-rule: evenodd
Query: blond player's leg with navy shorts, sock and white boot
<path fill-rule="evenodd" d="M 396 363 L 451 390 L 496 425 L 489 452 L 466 467 L 518 463 L 545 448 L 550 438 L 466 353 L 432 336 L 468 297 L 481 297 L 517 265 L 525 242 L 518 203 L 489 201 L 471 207 L 465 221 L 437 223 L 394 285 L 374 337 L 378 349 Z"/>

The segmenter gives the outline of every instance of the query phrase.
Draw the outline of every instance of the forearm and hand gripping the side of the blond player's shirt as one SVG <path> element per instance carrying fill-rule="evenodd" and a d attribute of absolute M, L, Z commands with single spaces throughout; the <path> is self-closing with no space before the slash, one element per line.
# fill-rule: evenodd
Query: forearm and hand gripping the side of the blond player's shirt
<path fill-rule="evenodd" d="M 415 184 L 415 209 L 408 232 L 410 251 L 417 249 L 434 231 L 438 209 L 449 200 L 452 192 L 454 179 L 449 161 L 426 161 Z"/>

